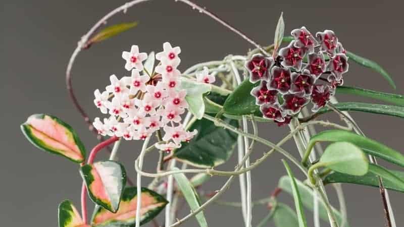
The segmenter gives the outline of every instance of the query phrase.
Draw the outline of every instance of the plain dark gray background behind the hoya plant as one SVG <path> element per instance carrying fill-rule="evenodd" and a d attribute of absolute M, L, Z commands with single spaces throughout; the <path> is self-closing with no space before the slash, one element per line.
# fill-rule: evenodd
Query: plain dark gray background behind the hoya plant
<path fill-rule="evenodd" d="M 87 149 L 96 144 L 96 139 L 68 98 L 64 72 L 80 36 L 100 17 L 124 2 L 1 1 L 2 226 L 56 226 L 57 206 L 66 198 L 79 208 L 81 179 L 78 166 L 34 148 L 23 138 L 19 125 L 32 113 L 51 113 L 71 124 L 85 141 Z M 345 85 L 404 93 L 400 68 L 404 52 L 400 1 L 366 1 L 366 4 L 365 1 L 197 2 L 261 44 L 272 43 L 281 11 L 284 12 L 286 33 L 302 25 L 313 33 L 333 29 L 345 48 L 384 66 L 393 75 L 397 90 L 393 91 L 380 75 L 354 63 L 351 63 L 350 72 L 345 77 Z M 220 60 L 228 53 L 244 54 L 251 48 L 244 40 L 208 17 L 174 1 L 156 0 L 141 4 L 130 9 L 126 15 L 114 17 L 109 24 L 134 20 L 140 20 L 136 29 L 94 45 L 77 59 L 73 69 L 73 84 L 80 103 L 91 117 L 100 116 L 92 104 L 94 89 L 105 87 L 109 83 L 109 75 L 113 73 L 119 76 L 127 73 L 123 68 L 121 51 L 129 49 L 132 44 L 138 44 L 146 52 L 159 51 L 164 41 L 180 45 L 182 70 L 198 62 Z M 352 96 L 339 98 L 345 101 L 363 100 Z M 401 146 L 402 119 L 366 113 L 353 115 L 369 137 L 404 150 Z M 286 128 L 277 128 L 272 124 L 261 125 L 260 129 L 261 136 L 274 142 L 287 133 Z M 132 179 L 133 160 L 139 153 L 139 147 L 139 142 L 125 142 L 120 150 L 121 161 L 127 166 Z M 292 143 L 284 147 L 293 154 L 297 152 Z M 266 149 L 258 145 L 253 157 L 260 157 Z M 105 153 L 100 154 L 100 158 L 106 158 Z M 285 174 L 280 158 L 280 155 L 274 155 L 252 172 L 254 199 L 268 196 L 279 177 Z M 219 168 L 232 169 L 235 160 L 236 155 L 233 155 L 229 164 Z M 154 171 L 156 157 L 150 156 L 147 161 L 145 168 Z M 217 190 L 224 181 L 223 177 L 215 177 L 203 190 Z M 329 194 L 334 194 L 332 187 L 327 189 Z M 384 225 L 377 188 L 344 185 L 344 189 L 351 226 Z M 390 194 L 397 225 L 402 226 L 404 197 L 396 192 Z M 238 181 L 235 181 L 222 199 L 237 201 L 238 195 Z M 286 194 L 281 194 L 280 200 L 291 201 Z M 335 199 L 333 203 L 337 205 Z M 187 210 L 185 207 L 182 215 Z M 265 206 L 255 208 L 254 225 L 267 212 Z M 239 209 L 212 205 L 205 214 L 210 226 L 242 226 Z M 312 216 L 310 212 L 307 215 Z M 196 226 L 196 222 L 190 220 L 184 225 Z"/>

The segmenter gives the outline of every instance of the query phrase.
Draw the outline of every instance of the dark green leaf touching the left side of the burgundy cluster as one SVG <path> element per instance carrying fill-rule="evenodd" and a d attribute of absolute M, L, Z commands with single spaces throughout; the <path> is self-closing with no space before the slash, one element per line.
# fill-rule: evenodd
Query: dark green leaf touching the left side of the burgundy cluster
<path fill-rule="evenodd" d="M 227 97 L 223 104 L 223 111 L 229 115 L 250 115 L 251 113 L 260 112 L 260 106 L 256 105 L 256 99 L 250 92 L 252 88 L 260 83 L 251 83 L 244 80 L 234 91 Z"/>

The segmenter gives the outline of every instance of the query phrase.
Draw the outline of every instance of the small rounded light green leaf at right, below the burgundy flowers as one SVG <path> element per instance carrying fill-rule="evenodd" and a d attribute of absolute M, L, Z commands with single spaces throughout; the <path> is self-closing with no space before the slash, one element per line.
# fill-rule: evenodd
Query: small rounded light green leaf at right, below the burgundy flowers
<path fill-rule="evenodd" d="M 320 162 L 333 171 L 363 176 L 368 173 L 369 162 L 361 148 L 349 142 L 330 144 L 320 157 Z"/>

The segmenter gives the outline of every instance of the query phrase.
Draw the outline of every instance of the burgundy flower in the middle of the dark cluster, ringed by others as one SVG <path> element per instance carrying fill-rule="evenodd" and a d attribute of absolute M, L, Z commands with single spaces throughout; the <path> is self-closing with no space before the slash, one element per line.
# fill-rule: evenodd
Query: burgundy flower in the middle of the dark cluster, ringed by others
<path fill-rule="evenodd" d="M 311 95 L 313 84 L 316 82 L 316 76 L 311 75 L 309 70 L 302 73 L 292 73 L 290 92 L 299 96 Z"/>

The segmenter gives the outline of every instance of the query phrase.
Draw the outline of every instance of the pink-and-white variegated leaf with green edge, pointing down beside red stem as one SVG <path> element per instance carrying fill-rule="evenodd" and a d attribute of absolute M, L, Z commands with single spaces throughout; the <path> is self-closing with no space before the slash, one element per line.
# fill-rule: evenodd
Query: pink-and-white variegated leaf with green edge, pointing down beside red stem
<path fill-rule="evenodd" d="M 123 165 L 115 161 L 100 161 L 81 166 L 80 174 L 91 200 L 111 212 L 117 212 L 126 183 Z"/>

